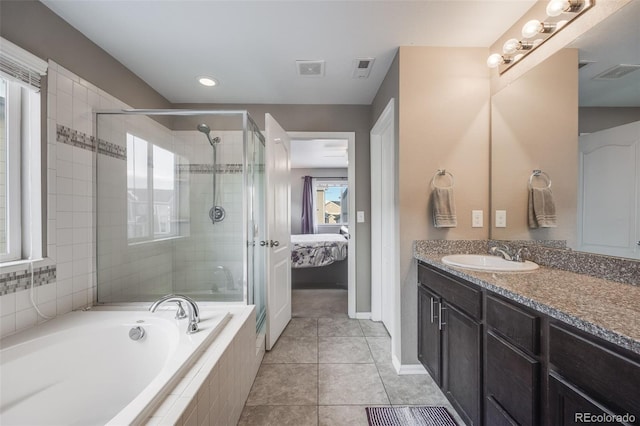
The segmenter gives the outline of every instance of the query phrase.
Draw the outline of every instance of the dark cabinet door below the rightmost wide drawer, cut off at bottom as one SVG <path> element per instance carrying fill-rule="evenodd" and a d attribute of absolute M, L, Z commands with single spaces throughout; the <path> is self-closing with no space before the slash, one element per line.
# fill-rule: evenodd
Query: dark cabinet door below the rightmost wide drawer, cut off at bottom
<path fill-rule="evenodd" d="M 619 414 L 619 413 L 618 413 Z M 586 416 L 589 416 L 586 418 Z M 549 375 L 549 421 L 554 426 L 584 424 L 630 425 L 637 424 L 622 415 L 616 417 L 601 404 L 555 373 Z M 633 416 L 632 416 L 633 417 Z M 610 421 L 609 421 L 610 420 Z M 617 421 L 620 420 L 620 421 Z"/>

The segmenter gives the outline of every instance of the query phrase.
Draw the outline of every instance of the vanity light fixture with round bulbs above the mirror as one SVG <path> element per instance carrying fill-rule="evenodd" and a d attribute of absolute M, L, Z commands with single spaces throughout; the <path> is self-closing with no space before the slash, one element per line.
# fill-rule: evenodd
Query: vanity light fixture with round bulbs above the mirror
<path fill-rule="evenodd" d="M 522 27 L 522 39 L 510 38 L 502 46 L 502 54 L 494 53 L 487 59 L 489 68 L 503 73 L 539 45 L 558 33 L 569 22 L 591 8 L 595 0 L 549 0 L 543 20 L 530 19 Z M 558 18 L 559 17 L 559 18 Z M 535 39 L 534 39 L 535 38 Z"/>

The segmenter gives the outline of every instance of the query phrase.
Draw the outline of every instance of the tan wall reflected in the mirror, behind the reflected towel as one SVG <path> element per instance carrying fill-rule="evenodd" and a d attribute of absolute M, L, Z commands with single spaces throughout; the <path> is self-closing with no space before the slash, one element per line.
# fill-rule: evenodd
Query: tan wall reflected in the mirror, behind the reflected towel
<path fill-rule="evenodd" d="M 491 208 L 507 211 L 507 227 L 492 228 L 491 237 L 575 241 L 578 51 L 562 49 L 494 95 L 491 104 Z M 527 225 L 534 169 L 551 177 L 557 228 Z M 535 186 L 543 183 L 534 179 Z"/>

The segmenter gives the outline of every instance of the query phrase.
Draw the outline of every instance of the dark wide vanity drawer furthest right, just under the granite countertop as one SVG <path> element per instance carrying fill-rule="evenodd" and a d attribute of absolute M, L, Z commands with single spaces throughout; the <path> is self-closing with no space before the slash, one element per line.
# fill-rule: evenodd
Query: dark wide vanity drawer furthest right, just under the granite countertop
<path fill-rule="evenodd" d="M 640 419 L 640 363 L 564 326 L 549 325 L 549 362 L 578 388 L 612 411 Z"/>

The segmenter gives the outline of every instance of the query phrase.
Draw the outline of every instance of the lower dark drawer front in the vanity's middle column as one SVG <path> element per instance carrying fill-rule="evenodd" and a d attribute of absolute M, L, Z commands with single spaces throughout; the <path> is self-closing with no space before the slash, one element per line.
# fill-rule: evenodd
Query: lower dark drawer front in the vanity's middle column
<path fill-rule="evenodd" d="M 491 332 L 486 351 L 487 397 L 495 399 L 517 424 L 537 425 L 540 363 Z"/>

